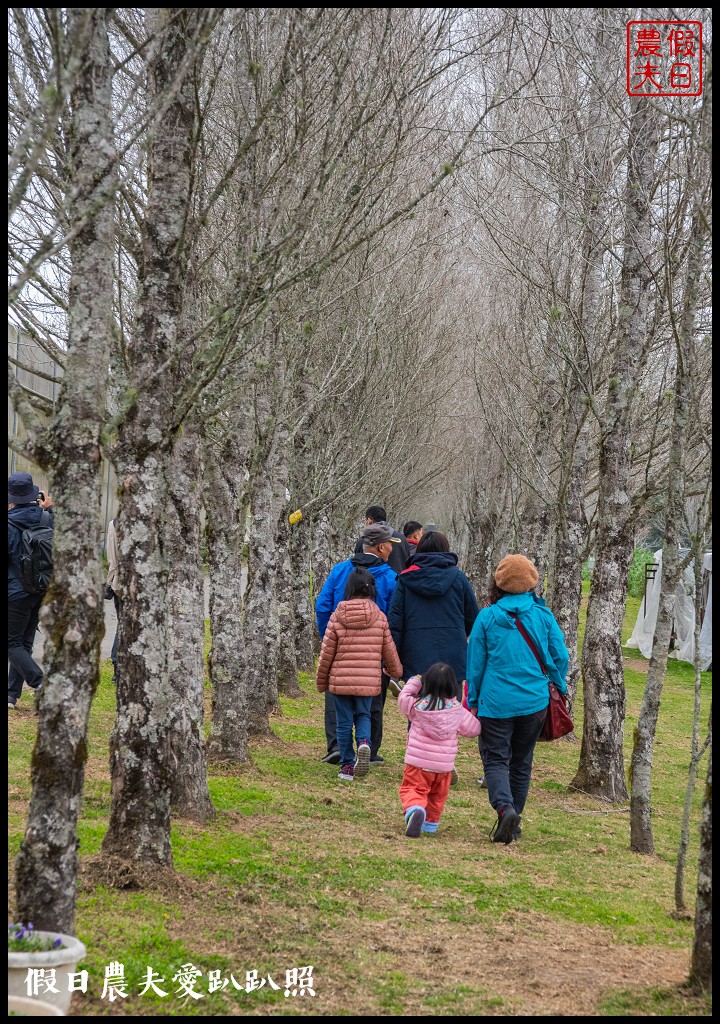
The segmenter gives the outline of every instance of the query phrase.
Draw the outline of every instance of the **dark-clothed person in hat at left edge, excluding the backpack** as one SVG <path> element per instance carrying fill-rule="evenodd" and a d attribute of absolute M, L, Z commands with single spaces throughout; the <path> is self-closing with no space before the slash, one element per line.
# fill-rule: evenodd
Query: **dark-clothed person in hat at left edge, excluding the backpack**
<path fill-rule="evenodd" d="M 7 707 L 14 708 L 26 682 L 37 690 L 42 669 L 33 659 L 33 643 L 43 594 L 29 594 L 23 585 L 23 530 L 40 525 L 52 499 L 41 495 L 30 473 L 12 473 L 7 480 Z"/>

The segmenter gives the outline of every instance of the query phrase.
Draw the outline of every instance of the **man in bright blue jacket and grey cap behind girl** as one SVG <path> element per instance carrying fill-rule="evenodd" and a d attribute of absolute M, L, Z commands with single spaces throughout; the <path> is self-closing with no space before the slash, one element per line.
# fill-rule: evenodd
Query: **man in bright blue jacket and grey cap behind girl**
<path fill-rule="evenodd" d="M 328 579 L 323 585 L 323 589 L 315 601 L 315 622 L 317 632 L 321 637 L 325 636 L 325 631 L 330 622 L 330 617 L 337 608 L 340 601 L 345 596 L 345 586 L 347 579 L 354 569 L 367 569 L 375 579 L 376 596 L 375 603 L 383 612 L 387 614 L 390 605 L 390 598 L 397 583 L 397 573 L 388 565 L 390 552 L 395 546 L 395 539 L 392 530 L 384 523 L 374 523 L 366 526 L 363 530 L 363 552 L 353 555 L 345 561 L 335 565 Z M 382 764 L 383 759 L 379 755 L 380 740 L 382 739 L 382 691 L 387 693 L 387 676 L 381 679 L 381 695 L 375 697 L 371 703 L 372 746 L 371 764 Z M 378 710 L 378 701 L 380 701 Z M 378 717 L 380 736 L 378 739 Z M 340 750 L 337 741 L 337 716 L 335 712 L 335 701 L 330 690 L 325 691 L 325 736 L 328 745 L 328 753 L 323 758 L 326 764 L 340 764 Z"/>

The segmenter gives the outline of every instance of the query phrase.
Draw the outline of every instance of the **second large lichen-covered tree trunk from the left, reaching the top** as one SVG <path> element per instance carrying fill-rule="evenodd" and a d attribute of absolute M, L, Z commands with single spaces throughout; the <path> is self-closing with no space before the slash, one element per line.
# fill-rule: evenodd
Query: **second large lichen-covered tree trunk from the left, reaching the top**
<path fill-rule="evenodd" d="M 175 694 L 167 643 L 172 624 L 163 550 L 171 450 L 166 434 L 173 421 L 169 382 L 179 361 L 183 321 L 195 123 L 192 82 L 185 77 L 177 87 L 176 79 L 196 16 L 195 8 L 149 8 L 146 14 L 151 30 L 163 37 L 149 71 L 149 101 L 164 101 L 165 113 L 147 156 L 137 325 L 127 353 L 133 404 L 119 426 L 117 449 L 123 614 L 118 718 L 111 739 L 111 816 L 102 852 L 162 866 L 172 865 L 175 777 L 170 742 Z M 173 97 L 169 102 L 168 95 Z"/>

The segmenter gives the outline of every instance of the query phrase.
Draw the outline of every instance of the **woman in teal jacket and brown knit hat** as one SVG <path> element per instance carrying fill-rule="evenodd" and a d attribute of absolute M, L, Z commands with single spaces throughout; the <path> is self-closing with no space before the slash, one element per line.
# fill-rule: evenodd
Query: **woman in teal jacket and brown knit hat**
<path fill-rule="evenodd" d="M 548 683 L 561 693 L 569 655 L 555 616 L 534 588 L 538 570 L 524 555 L 508 555 L 495 571 L 491 603 L 468 638 L 468 708 L 480 720 L 479 748 L 488 799 L 497 812 L 495 843 L 520 837 L 533 757 L 549 703 Z M 526 633 L 542 660 L 517 627 Z"/>

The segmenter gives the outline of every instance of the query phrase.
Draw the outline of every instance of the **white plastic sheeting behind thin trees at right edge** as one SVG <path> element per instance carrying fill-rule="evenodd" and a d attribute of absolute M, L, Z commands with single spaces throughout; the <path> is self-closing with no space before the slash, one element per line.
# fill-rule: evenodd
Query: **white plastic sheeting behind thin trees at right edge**
<path fill-rule="evenodd" d="M 686 552 L 681 552 L 681 557 Z M 645 599 L 640 604 L 635 629 L 626 647 L 635 647 L 645 657 L 652 653 L 652 637 L 658 622 L 658 606 L 660 604 L 660 585 L 663 575 L 663 552 L 655 551 L 654 561 L 658 571 L 654 580 L 648 580 Z M 713 660 L 713 553 L 707 552 L 703 557 L 703 569 L 708 573 L 707 599 L 705 616 L 700 635 L 701 668 L 705 672 Z M 675 591 L 675 646 L 670 652 L 671 657 L 680 662 L 692 663 L 694 658 L 695 640 L 695 606 L 694 606 L 694 568 L 690 562 L 682 573 Z"/>

